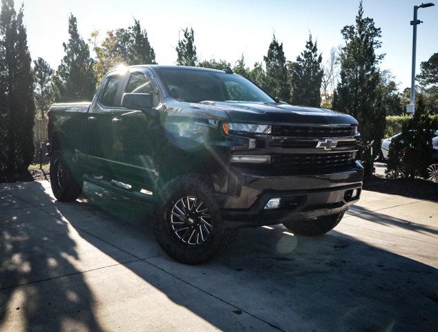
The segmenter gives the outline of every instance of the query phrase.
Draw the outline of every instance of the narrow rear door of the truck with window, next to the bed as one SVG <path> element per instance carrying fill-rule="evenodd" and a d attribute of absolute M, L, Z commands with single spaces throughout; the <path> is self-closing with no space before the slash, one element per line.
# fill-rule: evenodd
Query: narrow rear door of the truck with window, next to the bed
<path fill-rule="evenodd" d="M 113 112 L 120 108 L 124 75 L 110 74 L 104 78 L 94 107 L 88 112 L 86 124 L 87 158 L 93 174 L 113 174 Z"/>

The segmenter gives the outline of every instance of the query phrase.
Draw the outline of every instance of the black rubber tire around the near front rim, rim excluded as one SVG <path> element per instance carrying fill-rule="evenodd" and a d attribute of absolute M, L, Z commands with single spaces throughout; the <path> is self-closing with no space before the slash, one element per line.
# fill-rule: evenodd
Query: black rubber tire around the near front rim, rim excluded
<path fill-rule="evenodd" d="M 205 204 L 211 212 L 210 221 L 213 226 L 207 240 L 193 246 L 175 237 L 175 232 L 171 228 L 172 207 L 180 198 L 187 196 L 196 196 Z M 213 197 L 212 185 L 207 179 L 197 175 L 175 178 L 158 192 L 155 197 L 153 230 L 162 250 L 184 264 L 202 264 L 208 261 L 223 252 L 237 236 L 237 230 L 226 228 L 222 221 L 220 209 Z"/>

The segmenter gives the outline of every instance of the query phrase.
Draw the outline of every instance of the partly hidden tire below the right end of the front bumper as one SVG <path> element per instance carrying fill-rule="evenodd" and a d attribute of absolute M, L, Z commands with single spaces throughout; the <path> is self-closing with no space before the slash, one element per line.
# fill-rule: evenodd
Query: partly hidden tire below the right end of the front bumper
<path fill-rule="evenodd" d="M 294 234 L 304 235 L 306 237 L 318 237 L 335 228 L 341 221 L 343 215 L 344 212 L 341 212 L 330 216 L 320 216 L 316 219 L 289 221 L 283 223 L 283 225 Z"/>

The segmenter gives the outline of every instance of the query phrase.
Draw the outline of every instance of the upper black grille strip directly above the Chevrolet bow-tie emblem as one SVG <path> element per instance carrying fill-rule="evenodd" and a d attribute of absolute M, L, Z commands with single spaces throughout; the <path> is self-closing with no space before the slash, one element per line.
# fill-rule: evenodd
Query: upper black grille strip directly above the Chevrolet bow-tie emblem
<path fill-rule="evenodd" d="M 272 136 L 323 138 L 354 136 L 355 133 L 354 126 L 272 126 Z"/>

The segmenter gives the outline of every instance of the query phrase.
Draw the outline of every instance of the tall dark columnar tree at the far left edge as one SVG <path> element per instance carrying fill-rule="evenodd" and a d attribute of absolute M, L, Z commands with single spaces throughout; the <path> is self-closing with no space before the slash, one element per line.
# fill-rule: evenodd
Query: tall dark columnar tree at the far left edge
<path fill-rule="evenodd" d="M 0 64 L 0 174 L 21 174 L 35 153 L 35 102 L 23 6 L 13 0 L 1 1 Z"/>

